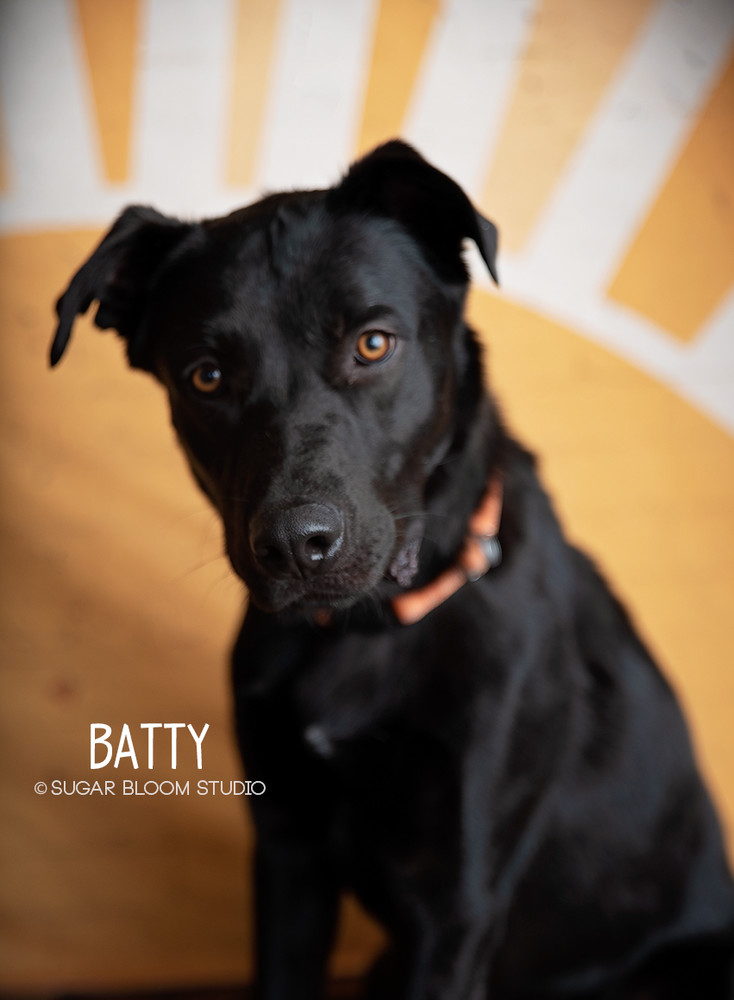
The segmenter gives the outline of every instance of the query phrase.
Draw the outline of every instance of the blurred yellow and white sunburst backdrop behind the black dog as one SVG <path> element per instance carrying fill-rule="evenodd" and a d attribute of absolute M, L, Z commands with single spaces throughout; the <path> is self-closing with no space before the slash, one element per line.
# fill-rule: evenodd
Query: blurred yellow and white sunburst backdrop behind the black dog
<path fill-rule="evenodd" d="M 470 313 L 571 538 L 678 690 L 734 846 L 731 0 L 2 0 L 0 989 L 246 982 L 245 601 L 162 392 L 53 304 L 131 202 L 328 185 L 402 136 L 501 230 Z M 472 255 L 473 259 L 473 255 Z M 152 770 L 147 722 L 205 723 Z M 139 754 L 90 770 L 89 727 Z M 257 778 L 257 775 L 251 775 Z M 115 780 L 111 796 L 37 794 Z M 552 901 L 549 901 L 552 906 Z M 336 976 L 379 935 L 348 902 Z"/>

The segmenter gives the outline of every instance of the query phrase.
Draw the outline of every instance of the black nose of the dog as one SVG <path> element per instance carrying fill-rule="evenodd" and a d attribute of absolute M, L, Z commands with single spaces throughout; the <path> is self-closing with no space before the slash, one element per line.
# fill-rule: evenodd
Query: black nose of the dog
<path fill-rule="evenodd" d="M 250 548 L 261 569 L 278 578 L 323 572 L 344 541 L 344 518 L 336 507 L 306 503 L 264 511 L 250 527 Z"/>

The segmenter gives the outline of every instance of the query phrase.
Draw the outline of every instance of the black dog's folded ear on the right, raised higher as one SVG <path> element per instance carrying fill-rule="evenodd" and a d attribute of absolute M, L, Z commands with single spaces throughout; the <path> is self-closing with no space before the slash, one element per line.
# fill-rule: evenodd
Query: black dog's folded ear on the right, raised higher
<path fill-rule="evenodd" d="M 393 139 L 358 160 L 331 192 L 330 203 L 396 219 L 450 280 L 467 280 L 461 242 L 472 239 L 497 282 L 496 226 L 455 181 L 407 143 Z"/>

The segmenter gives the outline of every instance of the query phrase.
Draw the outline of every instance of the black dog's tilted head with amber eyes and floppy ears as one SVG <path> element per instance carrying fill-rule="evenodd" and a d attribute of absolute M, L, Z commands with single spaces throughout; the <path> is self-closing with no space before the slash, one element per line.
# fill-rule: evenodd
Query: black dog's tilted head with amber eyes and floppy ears
<path fill-rule="evenodd" d="M 222 219 L 128 208 L 59 300 L 51 362 L 98 300 L 97 326 L 168 390 L 255 603 L 348 607 L 414 580 L 432 479 L 476 405 L 467 237 L 494 275 L 495 227 L 400 142 Z"/>

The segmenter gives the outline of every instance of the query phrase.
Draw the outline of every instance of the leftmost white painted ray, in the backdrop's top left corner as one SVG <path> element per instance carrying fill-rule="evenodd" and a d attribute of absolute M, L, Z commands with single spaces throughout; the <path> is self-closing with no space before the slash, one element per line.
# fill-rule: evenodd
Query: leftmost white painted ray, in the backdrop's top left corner
<path fill-rule="evenodd" d="M 0 4 L 0 95 L 10 190 L 0 226 L 45 224 L 99 186 L 101 152 L 73 8 L 47 0 Z"/>

